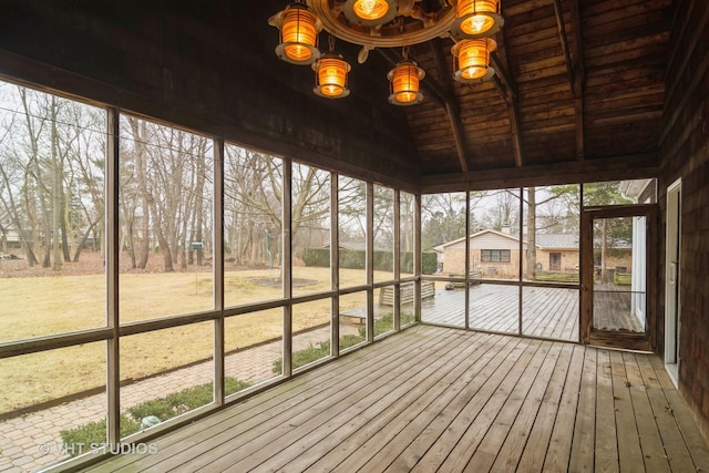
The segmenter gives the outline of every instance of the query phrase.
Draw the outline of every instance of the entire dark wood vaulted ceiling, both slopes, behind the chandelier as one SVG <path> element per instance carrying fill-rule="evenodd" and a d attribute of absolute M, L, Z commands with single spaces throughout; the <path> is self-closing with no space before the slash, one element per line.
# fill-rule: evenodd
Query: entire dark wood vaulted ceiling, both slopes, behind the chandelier
<path fill-rule="evenodd" d="M 288 0 L 3 3 L 0 74 L 340 172 L 424 192 L 657 172 L 672 0 L 502 0 L 492 80 L 455 82 L 450 38 L 412 44 L 407 107 L 387 101 L 401 50 L 359 64 L 341 40 L 351 94 L 316 96 L 274 51 Z"/>

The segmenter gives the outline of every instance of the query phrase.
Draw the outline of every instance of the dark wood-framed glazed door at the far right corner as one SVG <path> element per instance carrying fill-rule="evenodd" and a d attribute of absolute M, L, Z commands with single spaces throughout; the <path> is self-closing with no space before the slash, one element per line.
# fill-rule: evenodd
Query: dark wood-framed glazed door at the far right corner
<path fill-rule="evenodd" d="M 586 207 L 582 214 L 584 343 L 655 346 L 656 205 Z"/>

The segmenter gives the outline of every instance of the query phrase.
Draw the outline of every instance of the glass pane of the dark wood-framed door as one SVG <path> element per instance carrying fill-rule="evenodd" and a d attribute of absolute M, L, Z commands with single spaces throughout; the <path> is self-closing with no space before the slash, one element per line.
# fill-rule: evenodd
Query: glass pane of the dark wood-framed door
<path fill-rule="evenodd" d="M 646 331 L 646 217 L 594 219 L 595 330 Z"/>

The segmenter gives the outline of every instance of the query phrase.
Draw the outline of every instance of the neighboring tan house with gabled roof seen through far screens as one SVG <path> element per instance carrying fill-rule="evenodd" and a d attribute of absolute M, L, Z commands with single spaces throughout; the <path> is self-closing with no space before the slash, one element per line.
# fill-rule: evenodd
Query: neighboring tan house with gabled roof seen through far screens
<path fill-rule="evenodd" d="M 577 271 L 579 250 L 576 235 L 536 235 L 536 269 Z M 465 274 L 465 238 L 433 248 L 443 255 L 443 274 Z M 527 241 L 522 240 L 522 270 L 526 271 Z M 520 273 L 520 239 L 507 233 L 485 229 L 470 236 L 471 269 L 485 278 L 516 278 Z"/>

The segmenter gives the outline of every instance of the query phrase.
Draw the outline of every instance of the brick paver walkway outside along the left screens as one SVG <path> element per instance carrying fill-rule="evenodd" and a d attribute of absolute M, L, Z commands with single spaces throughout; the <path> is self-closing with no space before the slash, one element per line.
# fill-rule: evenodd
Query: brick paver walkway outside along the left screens
<path fill-rule="evenodd" d="M 357 332 L 356 328 L 351 330 Z M 329 327 L 312 330 L 294 338 L 294 350 L 327 339 Z M 266 343 L 227 356 L 225 372 L 242 381 L 264 381 L 274 376 L 271 363 L 280 357 L 280 341 Z M 208 361 L 123 387 L 121 410 L 207 383 L 213 372 L 213 363 Z M 104 419 L 105 409 L 105 394 L 97 394 L 0 422 L 0 472 L 35 471 L 68 459 L 66 452 L 62 452 L 60 431 Z"/>

